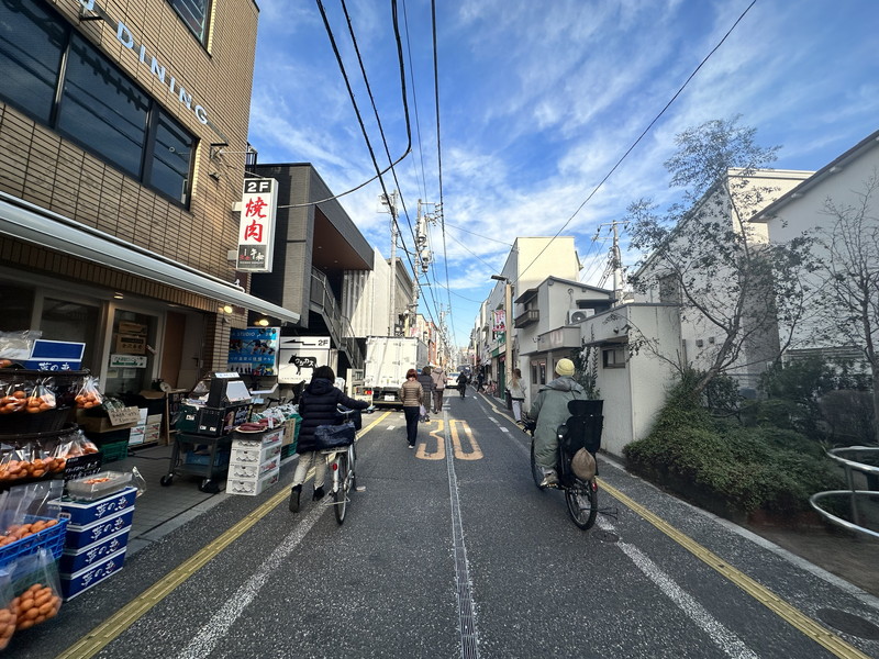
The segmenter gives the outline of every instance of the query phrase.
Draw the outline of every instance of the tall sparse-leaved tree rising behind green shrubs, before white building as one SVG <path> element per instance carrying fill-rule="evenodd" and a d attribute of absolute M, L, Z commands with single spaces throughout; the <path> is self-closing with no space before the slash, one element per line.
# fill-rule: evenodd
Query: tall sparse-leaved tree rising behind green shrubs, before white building
<path fill-rule="evenodd" d="M 681 324 L 717 337 L 702 356 L 694 393 L 719 375 L 778 358 L 790 340 L 790 333 L 779 337 L 779 321 L 792 331 L 804 312 L 799 272 L 810 259 L 809 238 L 774 245 L 763 225 L 749 222 L 778 193 L 755 176 L 778 147 L 758 146 L 756 131 L 737 121 L 709 121 L 677 136 L 665 167 L 671 186 L 685 187 L 681 203 L 663 214 L 649 200 L 628 208 L 631 246 L 647 255 L 632 286 L 658 291 L 679 304 Z M 692 366 L 677 353 L 667 360 Z"/>

